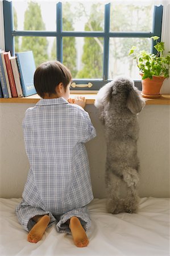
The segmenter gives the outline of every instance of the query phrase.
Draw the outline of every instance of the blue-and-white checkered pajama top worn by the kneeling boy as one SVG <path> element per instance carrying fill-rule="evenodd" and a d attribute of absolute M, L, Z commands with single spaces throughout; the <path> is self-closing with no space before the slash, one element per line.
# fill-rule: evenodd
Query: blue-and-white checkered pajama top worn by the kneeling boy
<path fill-rule="evenodd" d="M 23 119 L 30 171 L 23 199 L 53 214 L 93 200 L 85 142 L 96 136 L 89 114 L 64 98 L 42 99 Z"/>

